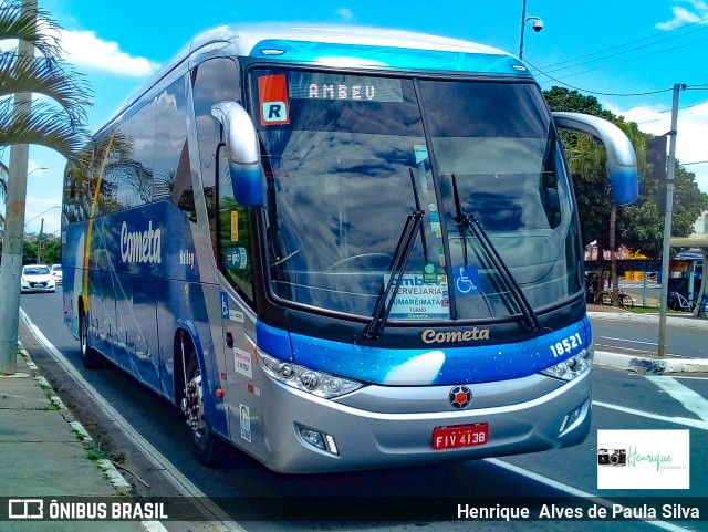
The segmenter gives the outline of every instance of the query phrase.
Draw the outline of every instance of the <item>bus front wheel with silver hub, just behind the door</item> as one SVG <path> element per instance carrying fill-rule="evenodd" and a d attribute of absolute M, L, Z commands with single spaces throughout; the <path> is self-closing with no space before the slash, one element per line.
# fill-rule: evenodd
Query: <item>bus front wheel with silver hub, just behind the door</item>
<path fill-rule="evenodd" d="M 187 362 L 187 385 L 181 399 L 181 411 L 189 427 L 191 449 L 205 466 L 212 466 L 216 459 L 216 437 L 204 419 L 204 386 L 197 354 L 189 354 Z"/>

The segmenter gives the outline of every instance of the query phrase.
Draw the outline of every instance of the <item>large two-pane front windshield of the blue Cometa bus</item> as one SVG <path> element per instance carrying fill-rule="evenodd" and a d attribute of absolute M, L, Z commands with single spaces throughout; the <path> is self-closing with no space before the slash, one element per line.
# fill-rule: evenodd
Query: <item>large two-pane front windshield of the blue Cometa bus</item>
<path fill-rule="evenodd" d="M 582 290 L 537 85 L 273 69 L 251 71 L 250 87 L 275 296 L 372 316 L 418 209 L 391 320 L 504 320 Z"/>

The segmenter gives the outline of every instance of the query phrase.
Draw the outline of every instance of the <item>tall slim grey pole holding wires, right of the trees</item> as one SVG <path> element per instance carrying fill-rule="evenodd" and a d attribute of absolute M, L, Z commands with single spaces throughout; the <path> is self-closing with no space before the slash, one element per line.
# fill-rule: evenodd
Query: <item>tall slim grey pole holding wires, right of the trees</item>
<path fill-rule="evenodd" d="M 664 249 L 662 251 L 662 292 L 659 299 L 658 355 L 666 355 L 666 304 L 668 300 L 668 262 L 671 251 L 671 216 L 674 212 L 674 176 L 676 175 L 676 134 L 678 126 L 678 95 L 686 85 L 674 84 L 671 106 L 671 131 L 669 135 L 668 169 L 666 173 L 666 213 L 664 216 Z"/>

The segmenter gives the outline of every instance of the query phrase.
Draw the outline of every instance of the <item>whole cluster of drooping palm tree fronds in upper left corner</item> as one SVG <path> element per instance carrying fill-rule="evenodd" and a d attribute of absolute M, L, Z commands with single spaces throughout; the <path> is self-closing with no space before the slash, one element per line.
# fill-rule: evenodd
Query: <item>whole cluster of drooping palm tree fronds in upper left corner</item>
<path fill-rule="evenodd" d="M 0 52 L 0 147 L 38 144 L 71 157 L 86 139 L 90 91 L 84 79 L 62 61 L 61 43 L 51 36 L 59 29 L 42 10 L 15 1 L 0 4 L 0 41 L 25 41 L 40 52 L 34 56 L 17 50 Z M 34 102 L 31 113 L 17 115 L 11 96 L 27 93 L 48 100 Z"/>

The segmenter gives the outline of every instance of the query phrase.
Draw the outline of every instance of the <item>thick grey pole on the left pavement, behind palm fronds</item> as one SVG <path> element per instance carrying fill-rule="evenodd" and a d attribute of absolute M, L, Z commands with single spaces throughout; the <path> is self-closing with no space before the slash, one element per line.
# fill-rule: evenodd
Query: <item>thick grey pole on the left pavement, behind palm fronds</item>
<path fill-rule="evenodd" d="M 22 0 L 22 11 L 37 17 L 37 0 Z M 37 23 L 37 19 L 35 19 Z M 34 45 L 20 40 L 20 56 L 34 56 Z M 31 93 L 14 95 L 14 116 L 29 113 Z M 22 275 L 22 243 L 24 242 L 24 207 L 27 170 L 30 147 L 15 144 L 10 148 L 10 171 L 6 201 L 2 270 L 0 270 L 0 375 L 14 375 L 18 368 L 18 328 L 20 324 L 20 275 Z"/>

